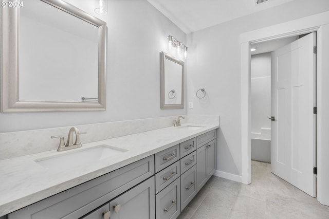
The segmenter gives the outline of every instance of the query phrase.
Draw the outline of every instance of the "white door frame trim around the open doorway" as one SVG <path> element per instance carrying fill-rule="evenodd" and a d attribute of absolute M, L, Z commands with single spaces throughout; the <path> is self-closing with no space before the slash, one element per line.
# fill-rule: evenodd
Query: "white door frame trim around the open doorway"
<path fill-rule="evenodd" d="M 322 147 L 329 143 L 329 137 L 325 135 L 329 131 L 329 125 L 321 122 L 329 119 L 329 100 L 325 100 L 325 81 L 329 77 L 325 70 L 329 70 L 329 64 L 322 62 L 329 60 L 329 52 L 324 48 L 329 47 L 325 36 L 329 35 L 329 11 L 302 17 L 301 19 L 273 25 L 240 35 L 241 43 L 241 180 L 244 184 L 251 183 L 251 110 L 250 110 L 250 44 L 300 35 L 309 32 L 317 32 L 317 199 L 321 204 L 329 205 L 329 177 L 322 173 L 329 171 L 329 149 Z M 322 49 L 323 48 L 323 49 Z M 322 74 L 323 72 L 323 74 Z M 328 122 L 327 122 L 328 123 Z M 322 132 L 324 135 L 322 135 Z"/>

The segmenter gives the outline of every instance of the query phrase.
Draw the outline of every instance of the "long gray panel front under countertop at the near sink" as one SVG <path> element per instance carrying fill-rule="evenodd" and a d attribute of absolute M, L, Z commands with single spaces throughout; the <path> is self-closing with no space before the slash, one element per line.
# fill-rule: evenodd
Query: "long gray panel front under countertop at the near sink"
<path fill-rule="evenodd" d="M 153 155 L 10 213 L 8 219 L 76 219 L 152 175 L 154 175 Z"/>

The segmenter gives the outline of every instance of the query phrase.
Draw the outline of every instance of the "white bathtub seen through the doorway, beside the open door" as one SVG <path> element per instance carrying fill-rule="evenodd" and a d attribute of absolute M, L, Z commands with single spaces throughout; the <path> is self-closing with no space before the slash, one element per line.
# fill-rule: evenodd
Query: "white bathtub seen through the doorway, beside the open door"
<path fill-rule="evenodd" d="M 262 128 L 261 133 L 251 133 L 251 159 L 271 162 L 271 129 Z"/>

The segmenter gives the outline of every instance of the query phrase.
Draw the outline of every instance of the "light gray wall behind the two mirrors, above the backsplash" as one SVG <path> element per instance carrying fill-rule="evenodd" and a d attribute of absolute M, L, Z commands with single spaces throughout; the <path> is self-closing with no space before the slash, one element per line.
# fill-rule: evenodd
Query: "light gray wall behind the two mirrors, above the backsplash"
<path fill-rule="evenodd" d="M 107 16 L 94 1 L 66 2 L 107 23 L 106 111 L 0 114 L 0 133 L 187 114 L 160 109 L 160 52 L 169 34 L 186 44 L 183 31 L 147 0 L 108 1 Z"/>

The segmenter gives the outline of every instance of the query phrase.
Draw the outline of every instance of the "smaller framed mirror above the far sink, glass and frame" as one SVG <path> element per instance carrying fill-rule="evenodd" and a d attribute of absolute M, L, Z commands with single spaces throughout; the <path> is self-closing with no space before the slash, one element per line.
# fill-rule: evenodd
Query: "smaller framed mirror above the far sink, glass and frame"
<path fill-rule="evenodd" d="M 184 108 L 184 65 L 161 52 L 161 109 Z"/>

